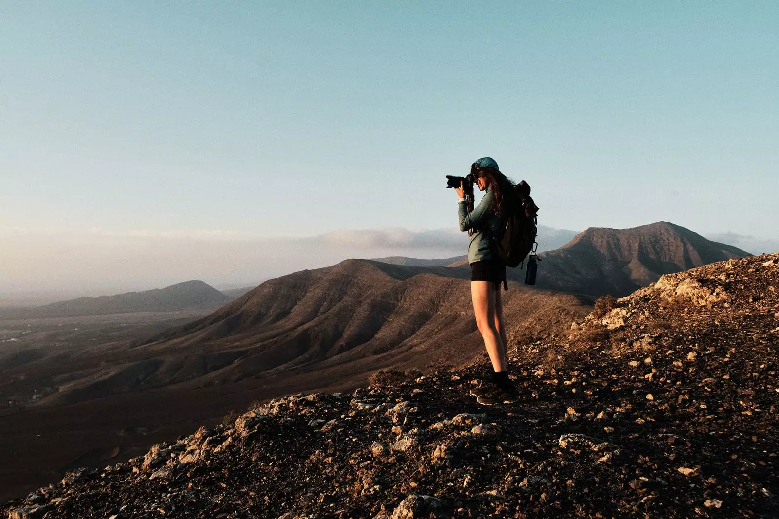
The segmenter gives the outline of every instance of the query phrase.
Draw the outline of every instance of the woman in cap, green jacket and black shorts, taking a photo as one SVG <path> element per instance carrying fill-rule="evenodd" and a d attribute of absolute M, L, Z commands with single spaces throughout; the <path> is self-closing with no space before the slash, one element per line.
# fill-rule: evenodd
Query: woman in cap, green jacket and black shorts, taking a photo
<path fill-rule="evenodd" d="M 506 359 L 506 327 L 500 285 L 506 282 L 506 265 L 495 252 L 494 238 L 506 224 L 507 206 L 513 193 L 513 182 L 503 175 L 498 163 L 490 157 L 480 158 L 471 165 L 479 191 L 486 191 L 479 205 L 468 213 L 462 183 L 456 189 L 460 214 L 460 231 L 471 232 L 468 263 L 471 264 L 471 299 L 474 303 L 476 326 L 485 341 L 492 362 L 491 383 L 475 387 L 471 394 L 480 404 L 491 405 L 516 401 L 516 389 L 509 380 Z"/>

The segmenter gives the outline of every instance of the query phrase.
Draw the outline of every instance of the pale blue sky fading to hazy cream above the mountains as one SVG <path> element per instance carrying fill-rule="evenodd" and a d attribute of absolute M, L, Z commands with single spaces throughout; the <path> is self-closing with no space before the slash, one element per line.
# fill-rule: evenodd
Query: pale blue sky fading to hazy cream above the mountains
<path fill-rule="evenodd" d="M 773 252 L 777 26 L 776 2 L 0 2 L 0 293 L 464 253 L 445 175 L 484 156 L 550 228 Z"/>

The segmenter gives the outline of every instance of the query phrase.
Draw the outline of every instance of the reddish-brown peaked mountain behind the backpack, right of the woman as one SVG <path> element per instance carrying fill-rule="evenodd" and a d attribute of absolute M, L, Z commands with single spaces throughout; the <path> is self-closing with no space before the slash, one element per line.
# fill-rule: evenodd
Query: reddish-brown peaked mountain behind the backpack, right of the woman
<path fill-rule="evenodd" d="M 661 274 L 749 252 L 660 221 L 629 229 L 588 228 L 567 245 L 539 256 L 539 288 L 622 296 L 654 283 Z"/>

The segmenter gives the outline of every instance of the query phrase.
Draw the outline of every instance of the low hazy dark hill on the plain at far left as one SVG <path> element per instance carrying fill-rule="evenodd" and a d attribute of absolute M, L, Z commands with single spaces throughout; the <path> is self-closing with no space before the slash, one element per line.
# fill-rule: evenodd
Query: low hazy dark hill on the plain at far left
<path fill-rule="evenodd" d="M 100 316 L 128 312 L 174 312 L 212 309 L 233 298 L 203 281 L 185 281 L 165 288 L 97 298 L 77 298 L 32 308 L 0 309 L 0 319 Z"/>

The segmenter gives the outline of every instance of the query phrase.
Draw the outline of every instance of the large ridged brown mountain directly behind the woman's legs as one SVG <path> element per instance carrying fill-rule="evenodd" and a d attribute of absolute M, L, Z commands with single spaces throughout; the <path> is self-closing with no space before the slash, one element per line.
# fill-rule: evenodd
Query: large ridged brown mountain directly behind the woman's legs
<path fill-rule="evenodd" d="M 566 331 L 591 300 L 513 284 L 509 341 Z M 210 316 L 101 354 L 41 403 L 254 380 L 273 393 L 348 386 L 387 367 L 460 365 L 483 351 L 467 271 L 346 260 L 266 281 Z"/>

